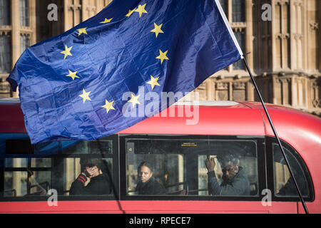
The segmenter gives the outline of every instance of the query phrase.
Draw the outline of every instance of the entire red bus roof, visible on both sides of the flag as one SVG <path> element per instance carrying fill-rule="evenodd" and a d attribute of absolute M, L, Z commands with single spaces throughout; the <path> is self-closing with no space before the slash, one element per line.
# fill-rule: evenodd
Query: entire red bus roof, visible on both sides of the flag
<path fill-rule="evenodd" d="M 297 145 L 321 143 L 321 119 L 300 110 L 266 104 L 277 134 Z M 170 109 L 174 111 L 170 113 Z M 0 133 L 26 133 L 24 115 L 18 98 L 0 100 Z M 188 124 L 188 121 L 190 124 Z M 141 121 L 120 134 L 160 135 L 271 135 L 270 123 L 258 102 L 200 102 L 178 104 Z M 310 143 L 309 143 L 310 144 Z"/>

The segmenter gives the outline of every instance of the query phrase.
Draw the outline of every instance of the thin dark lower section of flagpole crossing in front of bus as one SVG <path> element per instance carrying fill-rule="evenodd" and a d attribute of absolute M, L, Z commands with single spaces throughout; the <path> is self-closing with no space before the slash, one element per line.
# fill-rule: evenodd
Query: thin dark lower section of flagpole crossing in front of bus
<path fill-rule="evenodd" d="M 245 54 L 245 55 L 246 55 L 246 54 Z M 246 59 L 245 59 L 245 55 L 243 55 L 243 62 L 245 63 L 245 66 L 246 66 L 246 68 L 247 68 L 247 70 L 248 70 L 248 73 L 250 74 L 250 78 L 251 78 L 251 80 L 252 80 L 252 82 L 253 82 L 253 85 L 255 86 L 255 90 L 258 92 L 260 101 L 261 101 L 261 103 L 262 103 L 262 105 L 263 105 L 265 114 L 267 115 L 267 119 L 269 120 L 269 123 L 270 123 L 270 125 L 271 125 L 272 130 L 273 130 L 273 133 L 274 133 L 274 135 L 275 135 L 275 138 L 277 138 L 277 143 L 278 143 L 279 146 L 280 146 L 280 149 L 281 149 L 281 151 L 282 151 L 282 155 L 283 155 L 283 157 L 284 157 L 284 159 L 285 159 L 285 162 L 286 162 L 286 164 L 287 164 L 287 167 L 288 167 L 288 169 L 289 169 L 289 171 L 290 171 L 290 175 L 291 175 L 292 180 L 293 180 L 293 182 L 294 182 L 294 184 L 295 184 L 295 187 L 296 187 L 296 189 L 297 189 L 297 193 L 299 194 L 300 200 L 301 200 L 301 202 L 302 202 L 302 206 L 303 206 L 303 208 L 305 209 L 305 214 L 309 214 L 309 212 L 308 212 L 308 210 L 307 210 L 307 206 L 305 205 L 305 201 L 304 201 L 304 199 L 303 199 L 303 197 L 302 197 L 302 194 L 301 194 L 301 192 L 300 192 L 299 186 L 297 185 L 297 182 L 296 182 L 295 177 L 294 177 L 294 175 L 293 175 L 293 172 L 292 172 L 292 170 L 291 170 L 290 163 L 289 163 L 289 161 L 287 160 L 287 157 L 285 156 L 285 152 L 284 152 L 283 147 L 282 147 L 282 145 L 281 145 L 280 139 L 279 139 L 279 137 L 278 137 L 278 135 L 277 135 L 277 132 L 276 132 L 276 130 L 275 130 L 275 128 L 274 128 L 274 125 L 273 125 L 273 123 L 272 123 L 272 120 L 271 120 L 271 118 L 270 118 L 270 115 L 269 115 L 269 113 L 267 112 L 267 108 L 265 107 L 265 103 L 264 103 L 263 98 L 262 98 L 262 96 L 261 96 L 261 94 L 260 94 L 260 90 L 258 89 L 258 86 L 257 86 L 256 83 L 255 83 L 253 74 L 252 74 L 252 72 L 250 71 L 250 67 L 248 66 L 248 62 L 247 62 Z"/>

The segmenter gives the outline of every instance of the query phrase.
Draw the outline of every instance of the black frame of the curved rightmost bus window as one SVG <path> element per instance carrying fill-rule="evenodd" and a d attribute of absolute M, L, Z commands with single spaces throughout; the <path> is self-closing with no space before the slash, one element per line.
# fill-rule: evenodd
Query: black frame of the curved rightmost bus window
<path fill-rule="evenodd" d="M 272 150 L 272 144 L 277 143 L 276 138 L 266 136 L 266 155 L 267 155 L 267 189 L 269 189 L 272 193 L 272 202 L 300 202 L 300 197 L 282 197 L 282 196 L 276 196 L 275 195 L 275 175 L 274 175 L 274 159 L 273 159 L 273 150 Z M 308 197 L 303 197 L 305 202 L 313 202 L 315 200 L 315 190 L 312 182 L 312 178 L 310 175 L 310 172 L 307 168 L 307 165 L 305 164 L 304 160 L 300 156 L 300 153 L 295 150 L 294 147 L 289 145 L 284 140 L 280 140 L 282 147 L 285 147 L 287 150 L 290 151 L 290 153 L 295 157 L 299 165 L 302 167 L 303 172 L 305 173 L 305 177 L 307 177 L 307 186 L 309 189 L 309 195 Z M 278 144 L 278 143 L 277 143 Z"/>

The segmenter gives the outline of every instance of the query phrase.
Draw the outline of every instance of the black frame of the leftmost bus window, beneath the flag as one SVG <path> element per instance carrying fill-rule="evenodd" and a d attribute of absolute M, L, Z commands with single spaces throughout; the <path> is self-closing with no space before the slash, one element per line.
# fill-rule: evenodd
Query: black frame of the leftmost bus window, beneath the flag
<path fill-rule="evenodd" d="M 4 190 L 4 172 L 11 172 L 11 171 L 26 171 L 26 167 L 5 167 L 5 160 L 6 158 L 16 158 L 16 157 L 26 157 L 26 158 L 45 158 L 49 157 L 51 158 L 51 167 L 31 167 L 31 171 L 51 171 L 51 182 L 54 182 L 54 177 L 53 177 L 53 170 L 55 169 L 54 167 L 54 159 L 61 158 L 73 158 L 73 157 L 98 157 L 98 158 L 112 158 L 113 159 L 113 170 L 111 171 L 112 175 L 112 181 L 113 185 L 116 190 L 116 195 L 119 195 L 119 169 L 118 169 L 118 164 L 119 164 L 119 150 L 118 150 L 118 142 L 119 138 L 118 135 L 110 135 L 105 138 L 100 138 L 99 140 L 112 140 L 113 141 L 113 148 L 112 148 L 112 153 L 101 153 L 101 154 L 65 154 L 62 152 L 61 147 L 59 147 L 58 153 L 50 156 L 46 155 L 39 155 L 39 154 L 6 154 L 4 153 L 0 154 L 0 202 L 35 202 L 35 201 L 47 201 L 50 197 L 50 195 L 46 196 L 21 196 L 21 197 L 4 197 L 3 195 L 3 190 Z M 114 190 L 113 190 L 114 191 Z M 72 196 L 67 196 L 67 195 L 58 195 L 57 197 L 58 201 L 111 201 L 111 200 L 116 200 L 115 197 L 115 192 L 111 193 L 111 195 L 72 195 Z"/>

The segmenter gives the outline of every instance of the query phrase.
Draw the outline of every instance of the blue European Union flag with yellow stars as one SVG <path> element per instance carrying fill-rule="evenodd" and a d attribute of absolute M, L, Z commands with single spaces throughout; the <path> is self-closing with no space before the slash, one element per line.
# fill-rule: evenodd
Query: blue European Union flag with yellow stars
<path fill-rule="evenodd" d="M 168 108 L 163 93 L 185 95 L 242 58 L 217 3 L 114 0 L 27 48 L 7 80 L 31 143 L 118 133 Z"/>

